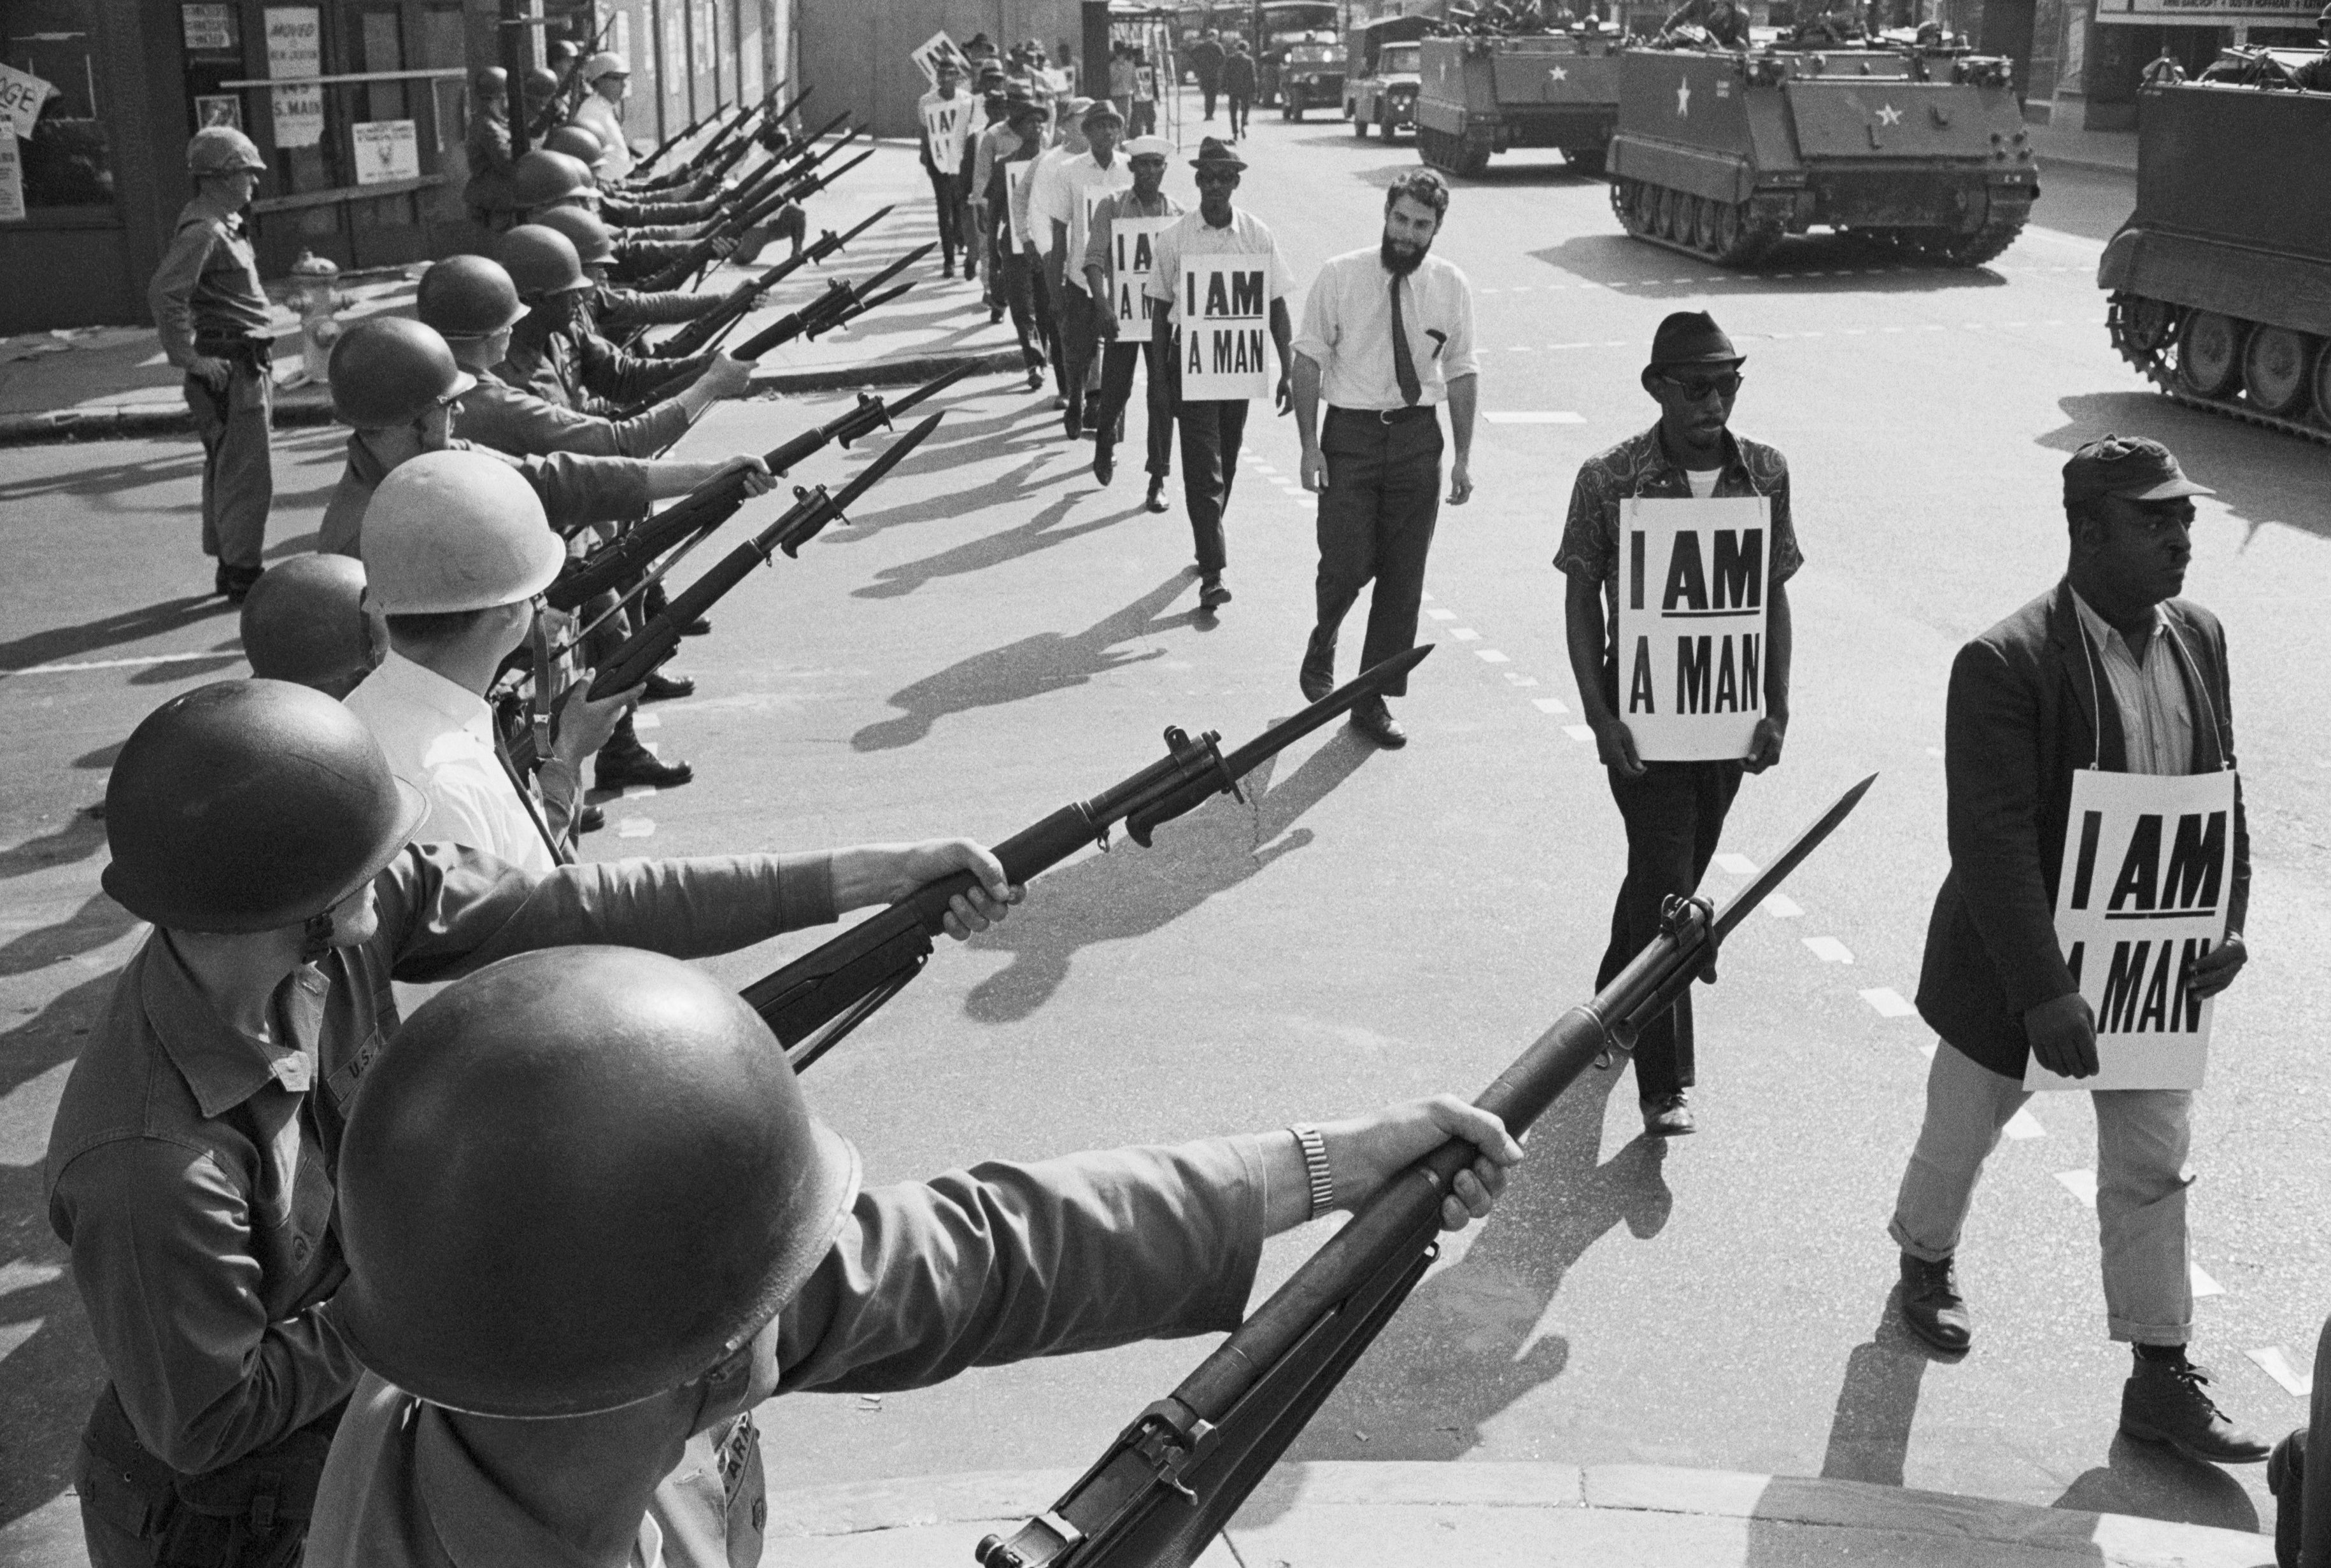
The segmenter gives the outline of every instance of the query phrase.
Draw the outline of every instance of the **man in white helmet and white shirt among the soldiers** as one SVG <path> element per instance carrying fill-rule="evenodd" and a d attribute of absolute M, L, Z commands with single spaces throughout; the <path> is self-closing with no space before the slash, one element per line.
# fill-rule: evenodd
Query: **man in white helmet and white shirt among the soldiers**
<path fill-rule="evenodd" d="M 464 843 L 548 874 L 571 860 L 583 760 L 606 746 L 639 690 L 557 715 L 541 785 L 497 743 L 485 692 L 531 631 L 536 596 L 566 561 L 543 503 L 485 452 L 429 452 L 373 492 L 364 517 L 368 594 L 389 620 L 389 657 L 347 694 L 389 757 L 429 799 L 422 841 Z"/>

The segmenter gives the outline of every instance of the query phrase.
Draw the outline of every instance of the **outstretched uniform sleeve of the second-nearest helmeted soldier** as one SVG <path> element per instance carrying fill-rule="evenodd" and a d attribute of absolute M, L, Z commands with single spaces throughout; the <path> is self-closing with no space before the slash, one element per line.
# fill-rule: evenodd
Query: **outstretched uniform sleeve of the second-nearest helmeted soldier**
<path fill-rule="evenodd" d="M 373 941 L 413 983 L 573 944 L 713 958 L 837 918 L 832 855 L 618 860 L 534 876 L 483 850 L 415 843 L 373 885 Z"/>

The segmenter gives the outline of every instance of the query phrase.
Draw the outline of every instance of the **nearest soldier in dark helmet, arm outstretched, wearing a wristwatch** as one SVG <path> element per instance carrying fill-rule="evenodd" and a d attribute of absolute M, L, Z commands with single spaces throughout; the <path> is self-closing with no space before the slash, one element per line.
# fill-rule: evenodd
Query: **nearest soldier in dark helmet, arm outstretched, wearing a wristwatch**
<path fill-rule="evenodd" d="M 333 1312 L 368 1372 L 308 1566 L 469 1542 L 753 1563 L 762 1400 L 1231 1328 L 1268 1235 L 1450 1137 L 1478 1146 L 1441 1205 L 1455 1230 L 1522 1149 L 1448 1095 L 862 1188 L 769 1030 L 702 972 L 613 948 L 499 962 L 413 1013 L 347 1118 Z M 685 1486 L 739 1438 L 727 1489 Z"/>

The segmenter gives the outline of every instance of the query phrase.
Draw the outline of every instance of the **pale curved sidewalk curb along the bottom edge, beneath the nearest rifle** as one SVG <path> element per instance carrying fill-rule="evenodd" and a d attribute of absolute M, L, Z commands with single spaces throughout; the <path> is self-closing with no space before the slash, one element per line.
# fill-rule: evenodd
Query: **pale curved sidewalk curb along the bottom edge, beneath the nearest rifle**
<path fill-rule="evenodd" d="M 1019 1521 L 1051 1503 L 1077 1479 L 1075 1470 L 981 1470 L 963 1475 L 846 1482 L 769 1493 L 769 1538 L 844 1538 L 881 1531 L 921 1533 L 932 1526 Z M 1231 1524 L 1231 1535 L 1268 1533 L 1263 1559 L 1301 1545 L 1308 1561 L 1361 1561 L 1389 1517 L 1427 1510 L 1441 1528 L 1466 1514 L 1497 1512 L 1494 1528 L 1513 1545 L 1548 1549 L 1569 1535 L 1601 1542 L 1641 1531 L 1664 1533 L 1697 1517 L 1781 1533 L 1828 1535 L 1821 1547 L 1848 1552 L 1844 1533 L 1904 1542 L 1900 1561 L 2114 1563 L 2124 1568 L 2270 1568 L 2263 1535 L 2198 1524 L 2035 1507 L 1998 1498 L 1911 1491 L 1874 1482 L 1744 1475 L 1669 1465 L 1559 1465 L 1536 1461 L 1317 1461 L 1280 1465 Z M 1529 1514 L 1538 1514 L 1531 1519 Z M 1399 1531 L 1392 1531 L 1399 1533 Z M 837 1542 L 839 1545 L 839 1542 Z M 858 1542 L 874 1547 L 879 1542 Z M 900 1535 L 897 1545 L 928 1556 Z M 1455 1545 L 1455 1542 L 1452 1542 Z M 851 1561 L 881 1561 L 853 1556 Z M 1238 1552 L 1240 1561 L 1254 1561 Z M 902 1554 L 900 1561 L 907 1561 Z M 1294 1561 L 1294 1559 L 1289 1559 Z M 1566 1559 L 1564 1559 L 1566 1561 Z M 1625 1554 L 1599 1561 L 1634 1561 Z M 1662 1559 L 1641 1559 L 1662 1561 Z M 1713 1563 L 1716 1559 L 1704 1559 Z M 1753 1561 L 1769 1561 L 1753 1554 Z M 1876 1559 L 1862 1559 L 1876 1561 Z M 1886 1561 L 1897 1561 L 1888 1556 Z"/>

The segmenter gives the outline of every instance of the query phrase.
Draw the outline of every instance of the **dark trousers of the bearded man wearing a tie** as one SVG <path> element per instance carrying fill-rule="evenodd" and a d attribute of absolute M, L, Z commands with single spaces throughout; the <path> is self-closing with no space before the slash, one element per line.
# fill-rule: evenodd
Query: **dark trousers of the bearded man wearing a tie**
<path fill-rule="evenodd" d="M 1319 624 L 1303 669 L 1336 673 L 1336 631 L 1375 580 L 1368 599 L 1368 638 L 1359 666 L 1368 669 L 1417 645 L 1417 606 L 1424 601 L 1424 555 L 1441 517 L 1441 415 L 1408 415 L 1385 424 L 1373 412 L 1326 410 L 1319 426 L 1326 454 L 1326 494 L 1319 496 Z M 1385 687 L 1403 697 L 1408 680 Z"/>

